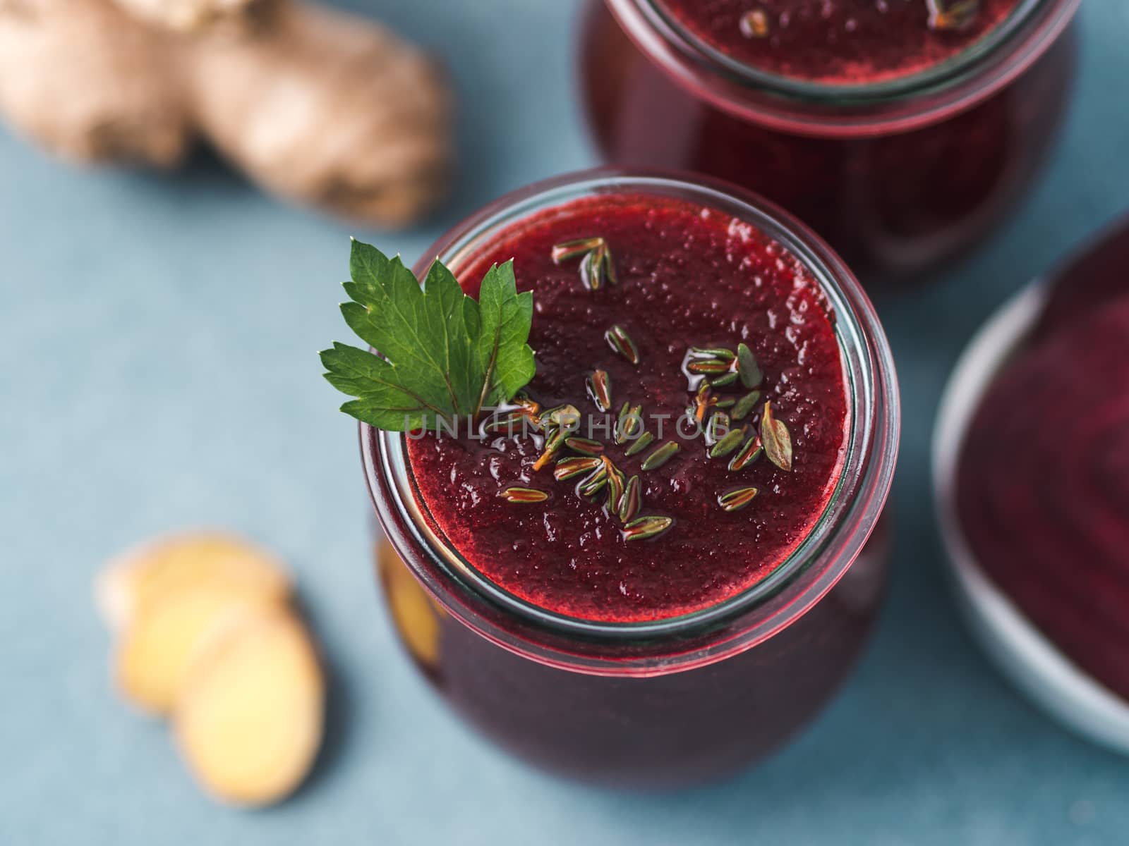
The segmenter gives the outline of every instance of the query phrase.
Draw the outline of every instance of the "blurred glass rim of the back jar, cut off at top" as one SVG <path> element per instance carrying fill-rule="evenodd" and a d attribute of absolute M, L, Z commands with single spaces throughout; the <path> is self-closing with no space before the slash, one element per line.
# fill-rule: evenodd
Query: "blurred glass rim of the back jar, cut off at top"
<path fill-rule="evenodd" d="M 606 3 L 663 72 L 725 112 L 800 134 L 874 135 L 914 129 L 999 90 L 1045 52 L 1080 0 L 1019 0 L 954 56 L 916 73 L 850 85 L 772 73 L 726 55 L 674 20 L 662 0 Z"/>

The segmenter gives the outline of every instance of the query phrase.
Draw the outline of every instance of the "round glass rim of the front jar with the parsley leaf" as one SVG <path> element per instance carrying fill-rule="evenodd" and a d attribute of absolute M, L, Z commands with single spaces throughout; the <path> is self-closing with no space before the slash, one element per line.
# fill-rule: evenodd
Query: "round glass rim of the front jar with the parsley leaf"
<path fill-rule="evenodd" d="M 448 611 L 499 645 L 545 663 L 645 675 L 686 669 L 747 649 L 789 625 L 833 587 L 861 550 L 885 503 L 900 415 L 892 354 L 857 280 L 804 224 L 735 186 L 697 176 L 691 182 L 669 171 L 601 168 L 566 175 L 501 197 L 443 236 L 426 255 L 438 256 L 457 273 L 483 243 L 540 211 L 628 193 L 684 199 L 747 220 L 802 261 L 828 298 L 851 403 L 847 456 L 823 514 L 784 563 L 736 596 L 690 614 L 627 623 L 566 616 L 499 588 L 439 537 L 421 510 L 404 434 L 361 424 L 360 441 L 386 535 Z M 415 270 L 419 275 L 425 268 Z M 676 656 L 669 654 L 675 644 Z"/>

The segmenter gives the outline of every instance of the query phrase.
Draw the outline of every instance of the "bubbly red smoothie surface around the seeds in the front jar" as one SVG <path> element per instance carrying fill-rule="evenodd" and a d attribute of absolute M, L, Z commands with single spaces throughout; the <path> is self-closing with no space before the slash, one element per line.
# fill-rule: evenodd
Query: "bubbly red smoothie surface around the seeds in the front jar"
<path fill-rule="evenodd" d="M 597 235 L 612 250 L 619 284 L 587 290 L 577 262 L 558 266 L 550 254 L 555 244 Z M 461 270 L 464 289 L 476 294 L 485 270 L 509 258 L 518 289 L 534 296 L 530 344 L 537 373 L 526 393 L 543 408 L 572 404 L 598 421 L 585 380 L 599 368 L 611 376 L 613 418 L 630 400 L 657 434 L 655 415 L 668 415 L 654 446 L 673 439 L 681 451 L 657 469 L 640 468 L 650 449 L 627 456 L 628 444 L 596 437 L 628 477 L 639 475 L 639 513 L 668 515 L 674 525 L 658 537 L 627 540 L 603 497 L 588 501 L 576 493 L 576 479 L 555 481 L 552 464 L 534 470 L 537 438 L 427 434 L 409 440 L 409 460 L 437 528 L 499 587 L 583 619 L 682 615 L 764 579 L 823 512 L 846 451 L 842 359 L 809 271 L 747 223 L 641 195 L 580 201 L 504 232 Z M 616 324 L 638 347 L 638 365 L 605 341 Z M 729 472 L 728 458 L 708 458 L 700 437 L 676 431 L 694 397 L 681 369 L 686 347 L 735 349 L 741 341 L 763 370 L 763 398 L 791 432 L 791 472 L 764 457 Z M 739 384 L 718 389 L 744 393 Z M 759 416 L 760 406 L 745 422 Z M 499 496 L 509 486 L 539 488 L 549 499 L 511 503 Z M 759 488 L 753 502 L 724 511 L 718 496 L 744 486 Z"/>

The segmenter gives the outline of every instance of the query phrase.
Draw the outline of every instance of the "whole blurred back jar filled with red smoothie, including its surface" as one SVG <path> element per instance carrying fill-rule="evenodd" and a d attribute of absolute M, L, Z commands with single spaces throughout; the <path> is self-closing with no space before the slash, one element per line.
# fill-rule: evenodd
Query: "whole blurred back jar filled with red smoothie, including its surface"
<path fill-rule="evenodd" d="M 1078 0 L 589 0 L 579 50 L 614 162 L 738 183 L 866 283 L 1000 222 L 1057 135 Z"/>

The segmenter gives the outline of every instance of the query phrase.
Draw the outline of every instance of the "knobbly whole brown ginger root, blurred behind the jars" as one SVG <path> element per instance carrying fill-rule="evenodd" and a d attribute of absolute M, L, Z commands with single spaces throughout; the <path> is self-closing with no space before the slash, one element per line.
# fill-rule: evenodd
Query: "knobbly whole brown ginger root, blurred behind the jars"
<path fill-rule="evenodd" d="M 378 226 L 445 195 L 450 103 L 415 47 L 291 0 L 0 0 L 0 114 L 80 162 L 208 140 L 269 191 Z"/>

